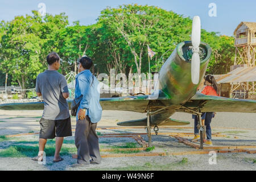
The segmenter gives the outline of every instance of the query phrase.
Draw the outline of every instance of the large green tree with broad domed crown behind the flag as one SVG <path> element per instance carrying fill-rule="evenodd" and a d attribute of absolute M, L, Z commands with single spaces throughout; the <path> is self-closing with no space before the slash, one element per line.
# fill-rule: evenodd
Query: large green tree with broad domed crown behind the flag
<path fill-rule="evenodd" d="M 172 11 L 137 4 L 119 6 L 118 9 L 107 8 L 101 11 L 99 22 L 126 41 L 126 47 L 133 55 L 135 71 L 139 74 L 147 70 L 143 69 L 147 68 L 147 44 L 162 59 L 166 51 L 189 39 L 192 24 L 191 19 Z"/>

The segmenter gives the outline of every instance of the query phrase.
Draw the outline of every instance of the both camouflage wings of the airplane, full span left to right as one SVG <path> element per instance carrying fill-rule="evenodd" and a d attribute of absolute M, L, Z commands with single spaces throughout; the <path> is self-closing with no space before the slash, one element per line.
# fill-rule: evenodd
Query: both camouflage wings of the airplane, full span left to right
<path fill-rule="evenodd" d="M 151 105 L 150 101 L 161 101 L 158 105 Z M 101 98 L 100 104 L 103 110 L 125 110 L 138 113 L 145 113 L 147 107 L 154 109 L 162 108 L 167 105 L 168 98 L 159 97 L 151 100 L 149 96 L 126 96 Z M 72 100 L 68 100 L 69 106 Z M 175 111 L 193 113 L 191 110 L 200 108 L 201 112 L 237 112 L 237 113 L 256 113 L 256 101 L 237 100 L 226 97 L 206 96 L 197 92 L 189 101 L 182 106 L 176 105 Z M 184 107 L 183 107 L 184 106 Z M 1 104 L 2 110 L 43 110 L 43 102 L 25 102 Z"/>

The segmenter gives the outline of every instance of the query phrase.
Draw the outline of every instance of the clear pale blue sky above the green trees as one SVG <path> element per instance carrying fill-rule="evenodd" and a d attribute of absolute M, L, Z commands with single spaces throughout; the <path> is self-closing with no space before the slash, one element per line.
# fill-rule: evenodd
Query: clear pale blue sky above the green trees
<path fill-rule="evenodd" d="M 118 7 L 124 4 L 158 6 L 174 11 L 184 17 L 199 15 L 201 27 L 207 31 L 220 32 L 233 36 L 241 22 L 256 22 L 255 0 L 0 0 L 0 20 L 10 21 L 17 15 L 32 14 L 40 10 L 39 3 L 46 5 L 46 13 L 55 15 L 65 13 L 69 24 L 79 20 L 82 25 L 97 22 L 97 18 L 106 7 Z"/>

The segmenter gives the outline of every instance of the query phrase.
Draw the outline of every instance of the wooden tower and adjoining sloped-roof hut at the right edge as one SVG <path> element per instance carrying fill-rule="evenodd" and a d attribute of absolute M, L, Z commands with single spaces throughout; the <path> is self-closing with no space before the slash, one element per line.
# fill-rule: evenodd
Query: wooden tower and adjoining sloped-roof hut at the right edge
<path fill-rule="evenodd" d="M 256 22 L 241 22 L 234 36 L 234 65 L 229 73 L 214 77 L 222 97 L 256 100 Z"/>

